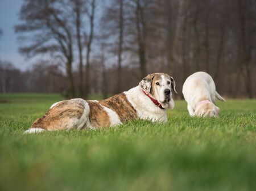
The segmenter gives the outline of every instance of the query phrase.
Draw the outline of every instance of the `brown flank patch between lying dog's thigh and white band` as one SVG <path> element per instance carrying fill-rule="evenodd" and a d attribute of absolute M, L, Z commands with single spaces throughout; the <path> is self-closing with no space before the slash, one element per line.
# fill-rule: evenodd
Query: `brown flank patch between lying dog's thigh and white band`
<path fill-rule="evenodd" d="M 94 128 L 110 126 L 109 115 L 104 111 L 103 107 L 95 101 L 87 101 L 87 103 L 90 107 L 90 124 Z"/>

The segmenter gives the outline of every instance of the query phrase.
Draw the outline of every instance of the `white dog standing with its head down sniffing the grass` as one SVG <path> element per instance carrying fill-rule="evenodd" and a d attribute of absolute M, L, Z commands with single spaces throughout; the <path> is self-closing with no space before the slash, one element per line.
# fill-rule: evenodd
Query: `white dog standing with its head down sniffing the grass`
<path fill-rule="evenodd" d="M 216 97 L 225 101 L 216 91 L 212 77 L 203 71 L 194 73 L 185 80 L 182 93 L 191 116 L 217 117 L 220 108 L 215 105 Z"/>

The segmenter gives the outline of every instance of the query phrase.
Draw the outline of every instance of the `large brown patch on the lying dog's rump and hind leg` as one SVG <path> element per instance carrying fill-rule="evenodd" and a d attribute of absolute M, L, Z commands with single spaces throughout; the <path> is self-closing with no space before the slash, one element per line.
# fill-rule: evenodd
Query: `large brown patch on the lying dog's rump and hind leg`
<path fill-rule="evenodd" d="M 73 120 L 79 119 L 84 112 L 82 99 L 61 101 L 52 109 L 48 109 L 43 117 L 37 118 L 31 128 L 47 130 L 63 130 L 76 128 Z"/>

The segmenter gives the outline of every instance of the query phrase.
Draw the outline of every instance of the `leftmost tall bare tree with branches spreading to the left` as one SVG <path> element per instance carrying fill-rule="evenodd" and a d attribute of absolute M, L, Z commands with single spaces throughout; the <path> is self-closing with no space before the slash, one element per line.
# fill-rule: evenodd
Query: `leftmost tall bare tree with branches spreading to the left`
<path fill-rule="evenodd" d="M 49 53 L 63 58 L 67 74 L 67 96 L 73 97 L 73 22 L 69 19 L 67 7 L 67 2 L 61 0 L 26 0 L 20 10 L 23 23 L 17 25 L 15 31 L 29 34 L 26 40 L 30 44 L 20 46 L 20 53 L 28 57 Z"/>

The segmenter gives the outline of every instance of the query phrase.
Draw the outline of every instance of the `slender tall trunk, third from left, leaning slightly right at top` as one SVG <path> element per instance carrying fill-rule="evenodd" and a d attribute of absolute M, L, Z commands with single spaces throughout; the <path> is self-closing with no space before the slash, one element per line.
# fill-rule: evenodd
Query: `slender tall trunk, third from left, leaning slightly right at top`
<path fill-rule="evenodd" d="M 85 66 L 85 98 L 88 97 L 89 91 L 90 91 L 90 50 L 92 46 L 93 41 L 93 28 L 94 28 L 94 12 L 95 12 L 95 0 L 92 0 L 91 2 L 91 14 L 89 15 L 90 18 L 90 34 L 88 43 L 86 45 L 87 51 L 86 51 L 86 66 Z"/>

